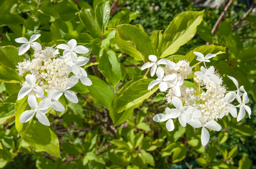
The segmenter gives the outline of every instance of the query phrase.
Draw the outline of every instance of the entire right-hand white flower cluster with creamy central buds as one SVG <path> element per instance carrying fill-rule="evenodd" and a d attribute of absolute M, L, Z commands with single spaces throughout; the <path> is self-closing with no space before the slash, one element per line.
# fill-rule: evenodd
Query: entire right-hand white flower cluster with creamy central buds
<path fill-rule="evenodd" d="M 237 117 L 237 122 L 239 122 L 245 117 L 245 112 L 248 112 L 250 117 L 251 109 L 245 105 L 249 103 L 249 99 L 244 87 L 239 88 L 235 78 L 228 76 L 236 85 L 237 90 L 227 91 L 222 79 L 216 75 L 214 66 L 207 68 L 205 63 L 210 62 L 209 59 L 216 55 L 208 54 L 204 57 L 200 52 L 194 52 L 194 54 L 198 56 L 198 61 L 204 63 L 200 71 L 194 72 L 195 88 L 187 87 L 184 83 L 188 75 L 193 75 L 188 61 L 180 60 L 178 63 L 174 63 L 168 59 L 160 59 L 156 62 L 157 57 L 150 55 L 149 59 L 152 62 L 145 63 L 141 69 L 152 66 L 151 75 L 153 76 L 156 72 L 157 79 L 148 85 L 148 90 L 159 84 L 160 91 L 168 91 L 165 97 L 167 103 L 173 104 L 175 107 L 175 109 L 166 108 L 165 114 L 156 114 L 153 120 L 156 122 L 167 121 L 168 131 L 174 130 L 174 118 L 178 118 L 183 127 L 186 124 L 195 128 L 202 127 L 201 142 L 203 146 L 206 146 L 210 139 L 206 128 L 220 131 L 221 126 L 216 122 L 218 119 L 231 113 L 233 117 Z M 231 104 L 234 99 L 237 99 L 240 104 L 236 106 Z M 238 115 L 236 108 L 240 108 Z"/>

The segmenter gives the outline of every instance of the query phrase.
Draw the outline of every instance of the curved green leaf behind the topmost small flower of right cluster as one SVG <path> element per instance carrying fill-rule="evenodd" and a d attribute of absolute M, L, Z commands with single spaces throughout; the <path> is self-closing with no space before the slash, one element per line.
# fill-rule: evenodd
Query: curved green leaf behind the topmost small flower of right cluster
<path fill-rule="evenodd" d="M 224 54 L 225 53 L 225 47 L 222 46 L 216 46 L 216 45 L 203 45 L 203 46 L 199 46 L 197 48 L 194 48 L 194 50 L 191 50 L 189 53 L 186 54 L 186 56 L 184 56 L 183 60 L 187 60 L 190 62 L 190 65 L 194 65 L 195 59 L 197 59 L 197 55 L 195 55 L 193 52 L 200 52 L 202 53 L 204 56 L 207 54 Z M 195 58 L 196 57 L 196 58 Z M 194 64 L 193 64 L 194 63 Z"/>

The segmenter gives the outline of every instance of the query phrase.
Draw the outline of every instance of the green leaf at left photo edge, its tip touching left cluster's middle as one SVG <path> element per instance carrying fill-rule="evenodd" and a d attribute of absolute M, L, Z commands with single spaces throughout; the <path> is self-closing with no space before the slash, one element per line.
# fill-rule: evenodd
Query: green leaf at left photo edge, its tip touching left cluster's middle
<path fill-rule="evenodd" d="M 16 70 L 0 65 L 0 82 L 22 83 L 22 81 L 24 78 L 20 77 Z"/>

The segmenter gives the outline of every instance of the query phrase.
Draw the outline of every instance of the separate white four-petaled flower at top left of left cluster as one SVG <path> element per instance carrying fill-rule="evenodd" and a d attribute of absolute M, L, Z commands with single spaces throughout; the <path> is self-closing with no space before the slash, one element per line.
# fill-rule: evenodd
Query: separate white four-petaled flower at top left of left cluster
<path fill-rule="evenodd" d="M 40 37 L 40 35 L 41 34 L 33 34 L 30 37 L 29 41 L 28 41 L 28 39 L 26 39 L 24 37 L 16 38 L 15 42 L 17 42 L 17 43 L 25 43 L 22 46 L 20 46 L 20 48 L 19 48 L 19 55 L 25 54 L 25 52 L 27 52 L 29 50 L 30 46 L 35 48 L 36 50 L 41 50 L 42 47 L 41 47 L 40 43 L 34 42 L 34 41 L 36 41 L 36 39 L 38 39 Z"/>

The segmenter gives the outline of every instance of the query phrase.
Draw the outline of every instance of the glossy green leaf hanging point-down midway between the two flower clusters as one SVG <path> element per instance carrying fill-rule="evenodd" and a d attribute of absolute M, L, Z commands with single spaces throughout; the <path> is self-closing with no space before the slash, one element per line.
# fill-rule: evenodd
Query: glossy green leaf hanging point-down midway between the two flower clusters
<path fill-rule="evenodd" d="M 117 60 L 116 53 L 113 50 L 104 50 L 103 56 L 100 59 L 100 64 L 98 65 L 98 69 L 106 77 L 106 82 L 113 85 L 114 88 L 120 82 L 120 63 Z"/>

